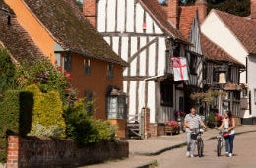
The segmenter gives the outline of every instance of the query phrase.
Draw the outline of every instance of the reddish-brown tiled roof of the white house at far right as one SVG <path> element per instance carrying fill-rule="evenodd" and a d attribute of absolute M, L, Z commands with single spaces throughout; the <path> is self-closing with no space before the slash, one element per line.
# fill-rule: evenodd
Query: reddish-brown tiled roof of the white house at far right
<path fill-rule="evenodd" d="M 249 19 L 214 10 L 224 24 L 236 35 L 250 54 L 256 54 L 256 22 Z"/>

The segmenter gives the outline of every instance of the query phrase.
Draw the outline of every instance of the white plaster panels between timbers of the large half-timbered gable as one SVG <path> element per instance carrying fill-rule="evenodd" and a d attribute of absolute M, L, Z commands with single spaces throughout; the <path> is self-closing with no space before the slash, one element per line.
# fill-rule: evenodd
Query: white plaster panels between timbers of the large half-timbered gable
<path fill-rule="evenodd" d="M 107 8 L 106 8 L 107 4 Z M 125 9 L 125 5 L 127 8 Z M 115 10 L 115 7 L 117 6 L 117 11 Z M 117 12 L 117 14 L 115 14 Z M 137 13 L 136 19 L 134 21 L 134 14 Z M 146 12 L 146 23 L 147 23 L 147 29 L 146 33 L 158 33 L 163 34 L 162 30 L 158 26 L 158 24 L 151 18 L 151 16 Z M 115 17 L 117 16 L 117 19 Z M 125 17 L 126 16 L 126 17 Z M 115 28 L 117 32 L 123 33 L 122 35 L 122 45 L 121 45 L 121 57 L 125 61 L 128 61 L 128 57 L 133 56 L 140 48 L 144 47 L 147 44 L 147 37 L 140 36 L 140 41 L 137 37 L 130 37 L 131 41 L 131 52 L 130 55 L 128 55 L 128 46 L 129 46 L 129 37 L 125 36 L 125 33 L 129 32 L 136 32 L 136 33 L 143 33 L 143 17 L 144 17 L 144 9 L 140 5 L 140 3 L 135 3 L 135 0 L 118 0 L 116 4 L 116 0 L 100 0 L 98 1 L 98 16 L 97 16 L 97 30 L 99 32 L 115 32 Z M 105 21 L 105 18 L 107 17 L 107 20 Z M 125 28 L 126 23 L 126 28 Z M 105 28 L 107 26 L 107 28 Z M 154 29 L 153 29 L 154 26 Z M 126 31 L 125 31 L 126 29 Z M 155 30 L 155 31 L 154 31 Z M 114 52 L 118 54 L 119 51 L 119 36 L 112 37 L 112 49 Z M 104 37 L 106 42 L 110 44 L 111 37 Z M 149 37 L 149 42 L 155 39 L 155 36 Z M 139 43 L 139 44 L 138 44 Z M 139 46 L 138 46 L 139 45 Z M 156 48 L 159 46 L 158 52 L 156 52 Z M 149 46 L 149 76 L 163 76 L 164 75 L 164 69 L 165 69 L 165 38 L 159 37 L 158 44 L 155 42 L 152 45 Z M 157 55 L 156 55 L 157 54 Z M 139 58 L 139 59 L 138 59 Z M 158 59 L 158 69 L 155 70 L 156 63 Z M 140 71 L 139 74 L 137 74 L 137 61 L 139 60 L 139 67 Z M 134 59 L 130 66 L 128 67 L 130 69 L 130 76 L 146 76 L 146 50 L 140 53 L 140 55 Z M 128 68 L 125 68 L 123 75 L 128 76 Z M 157 74 L 156 74 L 157 72 Z M 144 102 L 145 100 L 145 81 L 139 82 L 139 92 L 136 94 L 137 91 L 137 82 L 136 81 L 130 81 L 129 82 L 130 87 L 128 88 L 128 82 L 123 82 L 123 89 L 128 95 L 129 100 L 129 111 L 128 114 L 133 115 L 136 114 L 136 112 L 140 112 L 143 107 L 145 107 L 145 104 L 147 103 L 148 107 L 150 108 L 151 117 L 150 121 L 151 123 L 155 122 L 155 116 L 156 116 L 156 83 L 154 80 L 148 81 L 148 102 Z M 138 97 L 136 97 L 138 95 Z M 139 101 L 136 102 L 136 99 Z M 136 103 L 139 104 L 138 109 L 136 109 Z"/>

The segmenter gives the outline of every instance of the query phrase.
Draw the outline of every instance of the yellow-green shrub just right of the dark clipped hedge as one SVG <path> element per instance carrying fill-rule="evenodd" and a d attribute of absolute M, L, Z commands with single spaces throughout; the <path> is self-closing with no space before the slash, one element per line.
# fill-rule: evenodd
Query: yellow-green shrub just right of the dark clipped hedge
<path fill-rule="evenodd" d="M 34 96 L 30 135 L 64 138 L 66 126 L 59 93 L 42 93 L 34 84 L 27 86 L 25 90 L 32 92 Z"/>

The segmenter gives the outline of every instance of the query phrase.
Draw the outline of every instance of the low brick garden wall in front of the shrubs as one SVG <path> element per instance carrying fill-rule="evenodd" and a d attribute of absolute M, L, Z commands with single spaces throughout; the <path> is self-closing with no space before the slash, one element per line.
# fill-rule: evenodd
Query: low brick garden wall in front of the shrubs
<path fill-rule="evenodd" d="M 76 167 L 128 156 L 127 141 L 78 148 L 72 140 L 9 136 L 7 167 Z"/>

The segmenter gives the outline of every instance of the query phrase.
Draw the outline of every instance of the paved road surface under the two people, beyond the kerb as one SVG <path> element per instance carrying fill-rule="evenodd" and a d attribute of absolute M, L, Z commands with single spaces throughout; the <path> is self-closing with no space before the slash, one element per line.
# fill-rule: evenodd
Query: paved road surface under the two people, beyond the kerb
<path fill-rule="evenodd" d="M 202 158 L 186 158 L 185 147 L 164 152 L 152 159 L 158 162 L 158 168 L 256 168 L 256 133 L 236 135 L 234 156 L 217 157 L 216 140 L 205 140 L 205 155 Z M 222 150 L 224 153 L 224 148 Z"/>

